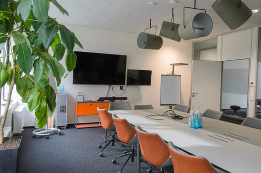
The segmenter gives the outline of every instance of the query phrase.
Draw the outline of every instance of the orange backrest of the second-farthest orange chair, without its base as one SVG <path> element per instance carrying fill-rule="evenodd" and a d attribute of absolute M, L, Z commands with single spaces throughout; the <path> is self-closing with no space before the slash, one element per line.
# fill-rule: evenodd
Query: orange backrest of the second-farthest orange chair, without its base
<path fill-rule="evenodd" d="M 134 128 L 132 128 L 126 119 L 118 118 L 116 115 L 113 115 L 112 119 L 114 121 L 118 138 L 124 143 L 129 143 L 136 134 Z"/>

